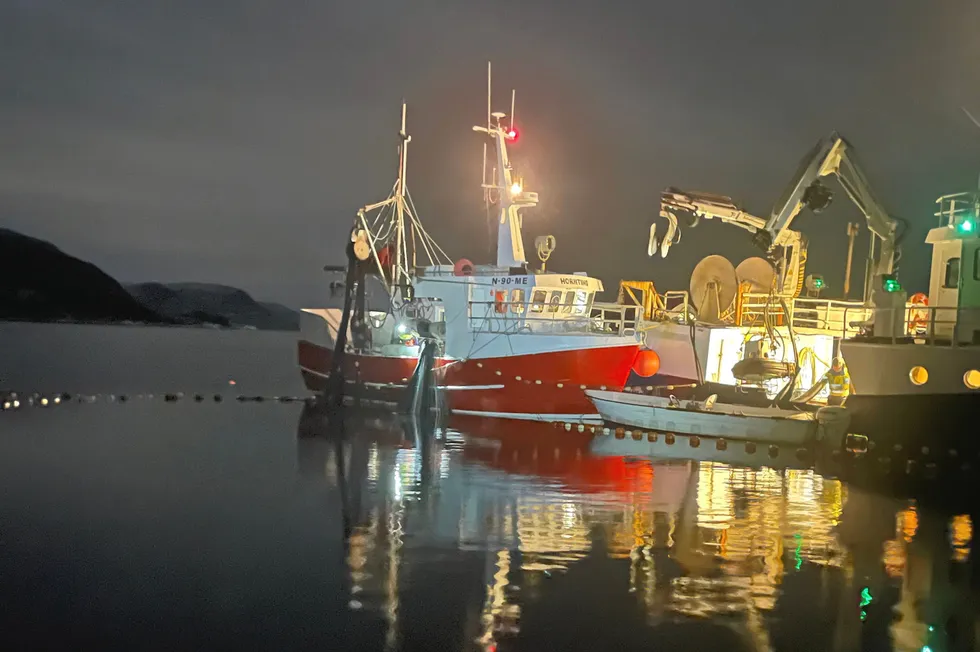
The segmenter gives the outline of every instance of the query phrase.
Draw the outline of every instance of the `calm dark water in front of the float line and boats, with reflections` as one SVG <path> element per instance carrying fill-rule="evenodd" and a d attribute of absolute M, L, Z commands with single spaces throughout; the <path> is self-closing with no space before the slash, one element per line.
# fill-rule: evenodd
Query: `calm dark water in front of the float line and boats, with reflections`
<path fill-rule="evenodd" d="M 974 649 L 969 506 L 547 426 L 345 432 L 278 403 L 0 414 L 4 648 Z"/>

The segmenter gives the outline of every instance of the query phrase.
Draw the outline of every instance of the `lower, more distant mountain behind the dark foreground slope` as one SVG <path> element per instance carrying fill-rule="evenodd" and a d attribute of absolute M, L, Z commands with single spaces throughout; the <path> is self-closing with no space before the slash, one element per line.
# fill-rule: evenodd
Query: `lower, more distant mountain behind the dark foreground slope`
<path fill-rule="evenodd" d="M 233 326 L 299 330 L 299 313 L 277 303 L 256 301 L 248 292 L 210 283 L 137 283 L 126 289 L 144 306 L 174 317 L 219 315 Z"/>

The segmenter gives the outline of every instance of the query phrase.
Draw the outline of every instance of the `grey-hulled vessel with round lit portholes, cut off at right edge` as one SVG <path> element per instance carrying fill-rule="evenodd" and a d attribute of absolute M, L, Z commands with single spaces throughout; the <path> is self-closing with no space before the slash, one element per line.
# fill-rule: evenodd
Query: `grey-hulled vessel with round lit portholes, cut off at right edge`
<path fill-rule="evenodd" d="M 936 200 L 926 305 L 877 286 L 874 328 L 844 339 L 856 431 L 939 454 L 980 452 L 980 191 Z M 891 301 L 889 301 L 891 299 Z"/>

